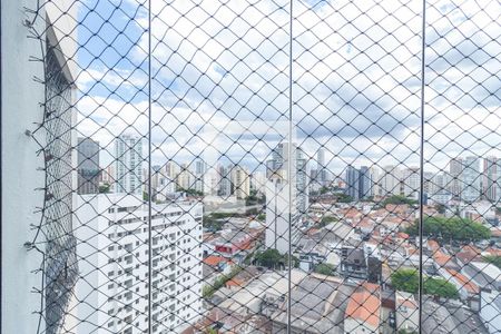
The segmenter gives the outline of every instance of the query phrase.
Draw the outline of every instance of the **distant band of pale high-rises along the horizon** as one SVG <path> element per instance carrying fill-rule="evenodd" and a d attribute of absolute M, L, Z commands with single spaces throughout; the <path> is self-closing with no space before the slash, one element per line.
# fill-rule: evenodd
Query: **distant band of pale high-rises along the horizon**
<path fill-rule="evenodd" d="M 127 137 L 130 138 L 130 137 Z M 134 137 L 134 140 L 137 140 L 137 137 Z M 81 140 L 81 138 L 79 139 Z M 136 141 L 135 141 L 136 143 Z M 136 144 L 135 144 L 136 145 Z M 282 147 L 284 144 L 279 144 L 277 147 Z M 323 159 L 323 153 L 324 149 L 322 148 L 317 153 L 317 157 L 322 156 Z M 95 153 L 96 156 L 96 153 Z M 269 177 L 269 170 L 281 168 L 281 163 L 278 161 L 278 158 L 281 154 L 277 154 L 276 148 L 271 150 L 271 154 L 268 155 L 271 158 L 266 160 L 265 170 L 249 170 L 248 168 L 240 167 L 239 165 L 235 164 L 228 164 L 226 167 L 217 163 L 216 166 L 208 165 L 203 158 L 196 158 L 195 160 L 190 161 L 189 164 L 175 164 L 174 161 L 168 161 L 166 165 L 155 165 L 153 166 L 154 175 L 158 175 L 158 171 L 160 171 L 163 168 L 166 169 L 167 177 L 165 175 L 161 176 L 161 183 L 163 187 L 158 187 L 158 179 L 155 179 L 154 181 L 154 194 L 164 191 L 165 189 L 167 193 L 175 193 L 178 191 L 178 189 L 194 189 L 200 194 L 205 195 L 225 195 L 229 196 L 230 194 L 238 193 L 237 195 L 238 199 L 244 199 L 245 197 L 249 196 L 249 190 L 252 186 L 256 186 L 252 183 L 253 176 L 262 177 L 267 176 Z M 346 184 L 346 187 L 348 188 L 347 191 L 351 194 L 350 196 L 354 198 L 354 200 L 357 200 L 360 198 L 370 197 L 370 196 L 385 196 L 387 194 L 402 194 L 404 196 L 411 197 L 411 198 L 419 198 L 419 181 L 420 181 L 420 168 L 418 167 L 404 167 L 400 165 L 387 165 L 382 168 L 379 166 L 361 166 L 360 170 L 365 170 L 362 174 L 366 175 L 365 177 L 358 177 L 354 175 L 355 167 L 352 165 L 346 165 L 344 168 L 344 171 L 341 175 L 335 175 L 326 167 L 323 167 L 323 173 L 317 173 L 317 168 L 321 165 L 318 161 L 314 166 L 315 168 L 312 168 L 312 166 L 308 166 L 308 160 L 304 159 L 304 153 L 301 150 L 302 160 L 304 161 L 305 171 L 304 176 L 302 176 L 302 183 L 304 186 L 302 188 L 308 188 L 311 190 L 318 190 L 320 187 L 330 185 L 336 180 L 341 180 L 344 184 Z M 136 159 L 139 161 L 141 160 L 145 165 L 145 159 L 143 156 L 137 155 Z M 114 164 L 115 168 L 118 166 L 117 159 Z M 273 163 L 275 161 L 275 163 Z M 466 199 L 466 202 L 474 202 L 477 199 L 489 199 L 492 203 L 497 203 L 500 200 L 501 196 L 501 181 L 500 173 L 498 171 L 499 163 L 501 159 L 489 156 L 485 158 L 480 158 L 475 156 L 465 156 L 465 157 L 455 157 L 452 158 L 446 166 L 440 169 L 439 174 L 431 174 L 430 171 L 424 170 L 424 191 L 428 195 L 438 195 L 438 193 L 442 194 L 443 191 L 450 193 L 453 198 L 459 197 L 459 193 L 461 191 L 462 198 Z M 118 163 L 120 164 L 120 163 Z M 272 165 L 269 165 L 272 164 Z M 121 164 L 124 165 L 124 163 Z M 276 166 L 275 166 L 276 165 Z M 308 167 L 306 167 L 308 166 Z M 139 168 L 137 165 L 135 168 Z M 228 171 L 225 171 L 227 168 Z M 169 171 L 167 171 L 167 169 Z M 141 168 L 140 177 L 136 177 L 136 183 L 138 187 L 135 187 L 136 193 L 138 188 L 144 188 L 145 184 L 141 184 L 140 179 L 144 177 L 143 175 L 146 173 L 146 169 Z M 284 169 L 285 170 L 285 169 Z M 115 171 L 116 173 L 116 171 Z M 136 171 L 137 174 L 138 171 Z M 237 176 L 239 173 L 245 173 L 245 176 Z M 132 173 L 131 175 L 134 175 Z M 227 174 L 227 176 L 224 176 Z M 147 177 L 147 175 L 146 175 Z M 158 177 L 158 176 L 157 176 Z M 240 179 L 240 180 L 237 180 Z M 328 181 L 327 181 L 328 178 Z M 116 177 L 115 177 L 116 179 Z M 358 180 L 357 183 L 362 183 L 364 180 L 364 186 L 356 185 L 351 186 L 353 181 Z M 254 180 L 255 183 L 256 180 Z M 403 181 L 403 185 L 400 186 Z M 462 189 L 463 187 L 461 184 L 469 185 L 465 189 Z M 141 185 L 143 187 L 140 187 Z M 233 185 L 237 185 L 237 188 L 232 188 Z M 243 190 L 240 190 L 240 186 L 243 186 Z M 401 189 L 402 187 L 402 189 Z M 263 185 L 258 186 L 259 189 L 263 189 Z M 353 188 L 352 190 L 350 188 Z M 355 189 L 356 188 L 356 189 Z M 357 195 L 354 195 L 354 193 L 357 193 Z M 363 191 L 364 195 L 358 191 Z M 386 191 L 386 193 L 385 193 Z M 97 193 L 97 191 L 96 191 Z M 303 193 L 307 193 L 304 190 Z M 303 200 L 303 203 L 306 203 Z M 305 207 L 305 205 L 303 205 Z M 304 208 L 303 208 L 304 210 Z"/>

